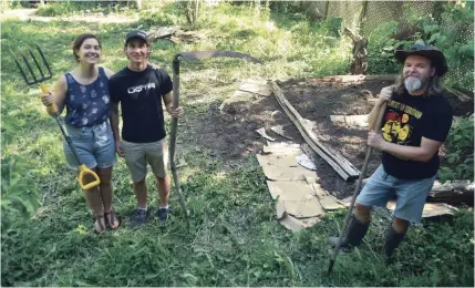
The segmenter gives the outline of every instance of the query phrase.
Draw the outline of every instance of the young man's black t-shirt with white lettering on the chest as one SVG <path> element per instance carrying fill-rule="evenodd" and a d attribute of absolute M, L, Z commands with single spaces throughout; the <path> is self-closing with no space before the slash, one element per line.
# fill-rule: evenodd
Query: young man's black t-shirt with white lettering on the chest
<path fill-rule="evenodd" d="M 124 68 L 110 79 L 111 100 L 121 102 L 123 140 L 149 143 L 166 136 L 162 97 L 172 89 L 168 73 L 151 65 L 141 72 Z"/>

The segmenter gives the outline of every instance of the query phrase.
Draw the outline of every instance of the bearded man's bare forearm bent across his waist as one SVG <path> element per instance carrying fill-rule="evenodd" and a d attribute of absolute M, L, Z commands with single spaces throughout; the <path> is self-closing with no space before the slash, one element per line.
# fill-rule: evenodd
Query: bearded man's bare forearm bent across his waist
<path fill-rule="evenodd" d="M 422 137 L 421 146 L 403 146 L 386 142 L 381 134 L 370 131 L 368 134 L 368 145 L 373 148 L 388 152 L 399 158 L 415 162 L 428 162 L 442 145 L 442 142 Z"/>

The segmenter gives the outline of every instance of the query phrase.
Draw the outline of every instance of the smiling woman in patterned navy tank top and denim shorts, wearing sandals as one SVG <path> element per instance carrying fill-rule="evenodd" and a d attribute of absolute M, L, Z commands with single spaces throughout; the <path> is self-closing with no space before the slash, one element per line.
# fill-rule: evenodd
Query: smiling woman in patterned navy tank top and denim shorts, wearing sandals
<path fill-rule="evenodd" d="M 94 215 L 94 230 L 103 233 L 106 223 L 113 229 L 118 226 L 112 207 L 111 178 L 116 156 L 109 122 L 111 101 L 107 86 L 109 78 L 114 73 L 99 66 L 102 47 L 96 35 L 79 35 L 72 44 L 72 52 L 78 66 L 60 76 L 53 94 L 43 94 L 41 100 L 45 106 L 56 105 L 60 114 L 66 107 L 64 122 L 79 158 L 99 176 L 99 186 L 83 192 Z M 78 169 L 80 163 L 66 143 L 63 143 L 63 148 L 69 166 Z M 86 175 L 85 183 L 93 181 L 91 175 Z"/>

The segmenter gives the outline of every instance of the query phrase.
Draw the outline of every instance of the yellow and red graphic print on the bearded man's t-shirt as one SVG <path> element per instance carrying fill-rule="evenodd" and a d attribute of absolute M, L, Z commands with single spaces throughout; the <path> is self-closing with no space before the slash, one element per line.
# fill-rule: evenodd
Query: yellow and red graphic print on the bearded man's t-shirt
<path fill-rule="evenodd" d="M 414 119 L 421 119 L 422 112 L 391 100 L 389 112 L 384 114 L 383 137 L 390 143 L 409 145 Z"/>

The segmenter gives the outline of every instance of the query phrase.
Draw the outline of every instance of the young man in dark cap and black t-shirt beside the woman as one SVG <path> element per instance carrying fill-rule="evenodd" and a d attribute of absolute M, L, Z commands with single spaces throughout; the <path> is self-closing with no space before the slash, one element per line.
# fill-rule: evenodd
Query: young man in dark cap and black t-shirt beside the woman
<path fill-rule="evenodd" d="M 162 222 L 169 213 L 169 176 L 166 173 L 167 148 L 162 100 L 173 117 L 183 114 L 182 107 L 172 107 L 172 80 L 162 69 L 148 64 L 151 45 L 145 32 L 132 31 L 125 38 L 126 68 L 114 74 L 109 82 L 112 101 L 112 130 L 115 150 L 131 171 L 137 209 L 131 218 L 131 227 L 143 224 L 147 217 L 147 163 L 157 179 L 159 206 L 156 209 Z M 122 109 L 122 141 L 118 132 L 118 103 Z"/>

